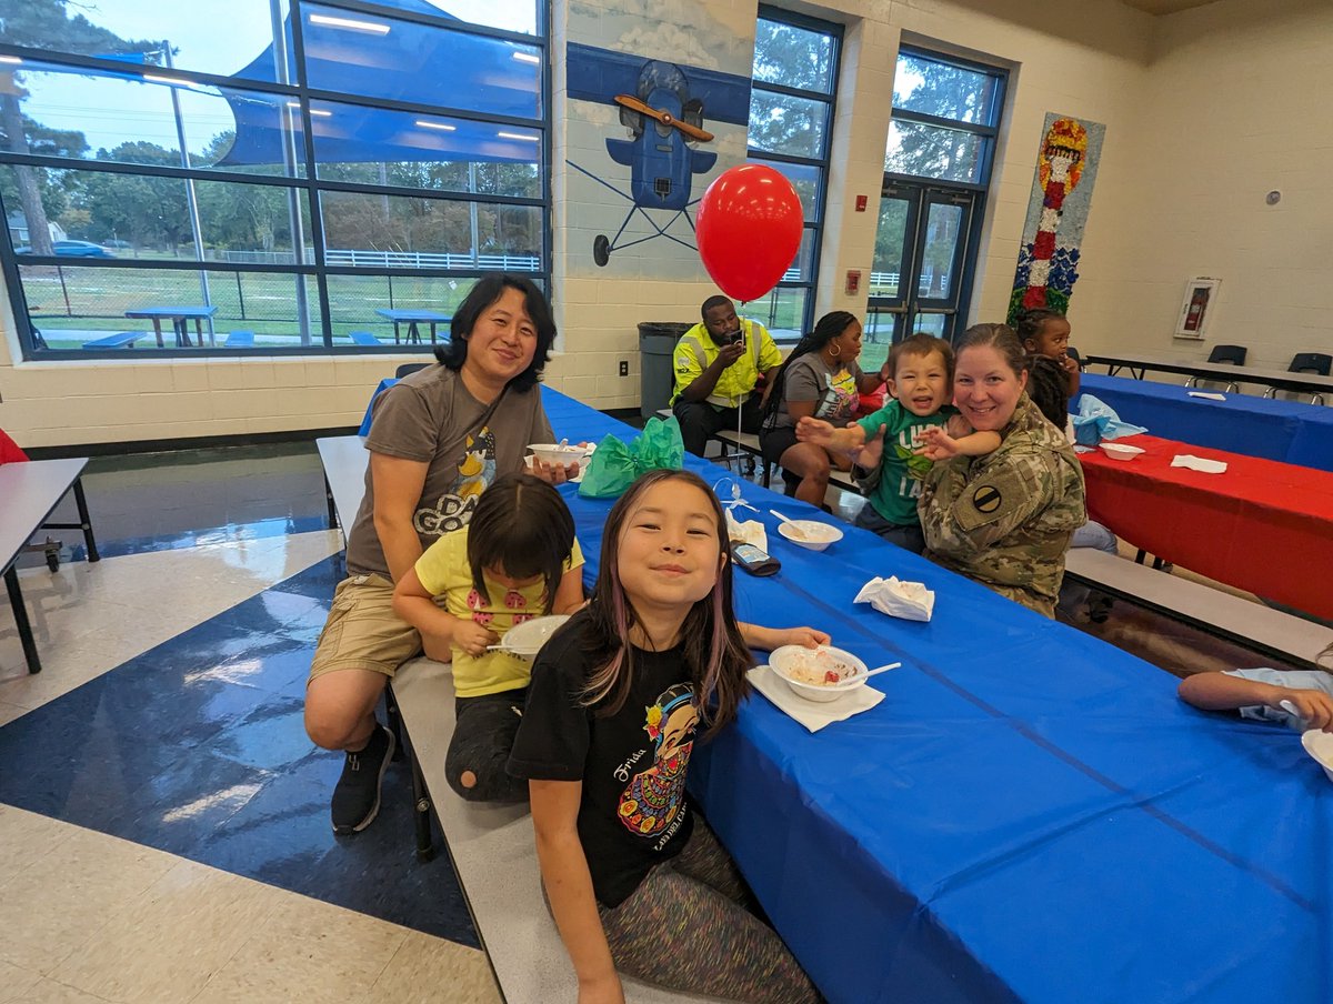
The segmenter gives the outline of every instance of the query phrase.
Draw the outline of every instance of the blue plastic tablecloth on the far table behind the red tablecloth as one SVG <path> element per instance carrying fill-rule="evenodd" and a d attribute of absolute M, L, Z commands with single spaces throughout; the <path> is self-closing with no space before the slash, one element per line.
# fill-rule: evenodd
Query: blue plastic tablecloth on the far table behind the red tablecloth
<path fill-rule="evenodd" d="M 1180 384 L 1097 373 L 1082 375 L 1082 389 L 1154 436 L 1333 471 L 1333 408 L 1244 393 L 1212 401 Z"/>

